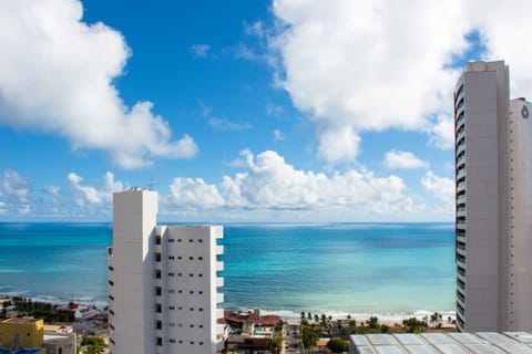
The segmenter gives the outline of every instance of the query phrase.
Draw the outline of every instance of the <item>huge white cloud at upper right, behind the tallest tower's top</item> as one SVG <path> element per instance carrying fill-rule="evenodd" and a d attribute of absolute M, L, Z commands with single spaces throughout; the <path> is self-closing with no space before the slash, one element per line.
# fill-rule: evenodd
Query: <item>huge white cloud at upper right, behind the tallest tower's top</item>
<path fill-rule="evenodd" d="M 273 11 L 279 84 L 316 123 L 328 162 L 355 158 L 364 131 L 419 131 L 451 148 L 452 90 L 462 71 L 452 64 L 471 33 L 487 60 L 507 60 L 514 92 L 532 96 L 523 51 L 530 1 L 274 0 Z"/>

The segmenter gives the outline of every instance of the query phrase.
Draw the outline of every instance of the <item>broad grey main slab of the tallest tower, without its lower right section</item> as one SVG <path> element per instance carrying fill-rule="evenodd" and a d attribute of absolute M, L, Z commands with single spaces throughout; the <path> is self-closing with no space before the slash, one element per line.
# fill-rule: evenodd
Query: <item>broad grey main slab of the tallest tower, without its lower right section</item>
<path fill-rule="evenodd" d="M 498 331 L 505 296 L 505 291 L 501 292 L 505 278 L 501 278 L 500 248 L 507 225 L 501 216 L 501 209 L 507 209 L 501 194 L 508 188 L 508 177 L 501 174 L 505 147 L 500 142 L 507 136 L 508 69 L 503 62 L 468 64 L 461 83 L 464 104 L 457 117 L 464 112 L 467 211 L 457 211 L 457 220 L 466 216 L 466 225 L 457 223 L 457 230 L 466 230 L 464 238 L 457 237 L 466 243 L 466 250 L 457 247 L 457 254 L 466 257 L 466 277 L 457 275 L 466 282 L 466 301 L 457 300 L 466 310 L 460 329 Z"/>

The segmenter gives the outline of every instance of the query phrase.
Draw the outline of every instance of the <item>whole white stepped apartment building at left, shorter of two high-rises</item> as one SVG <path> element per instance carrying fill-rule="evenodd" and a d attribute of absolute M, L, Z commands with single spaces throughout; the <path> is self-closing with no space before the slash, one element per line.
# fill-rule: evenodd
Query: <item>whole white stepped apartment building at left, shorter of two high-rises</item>
<path fill-rule="evenodd" d="M 206 354 L 222 348 L 223 228 L 156 226 L 157 194 L 113 198 L 109 259 L 110 352 Z"/>

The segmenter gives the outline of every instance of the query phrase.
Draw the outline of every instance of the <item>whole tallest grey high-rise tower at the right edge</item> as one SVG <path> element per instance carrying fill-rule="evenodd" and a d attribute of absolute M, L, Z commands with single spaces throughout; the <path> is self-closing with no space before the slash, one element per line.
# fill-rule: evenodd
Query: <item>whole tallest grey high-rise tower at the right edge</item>
<path fill-rule="evenodd" d="M 503 61 L 468 63 L 454 92 L 457 325 L 532 330 L 532 106 Z"/>

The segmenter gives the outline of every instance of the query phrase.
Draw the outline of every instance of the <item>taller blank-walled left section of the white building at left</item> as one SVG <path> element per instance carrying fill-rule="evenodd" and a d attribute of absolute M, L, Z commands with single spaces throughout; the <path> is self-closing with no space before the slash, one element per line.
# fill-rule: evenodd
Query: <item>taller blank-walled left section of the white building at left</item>
<path fill-rule="evenodd" d="M 114 354 L 154 353 L 154 259 L 150 241 L 156 215 L 156 192 L 114 194 L 114 301 L 110 302 L 110 312 L 114 312 L 110 313 Z"/>

